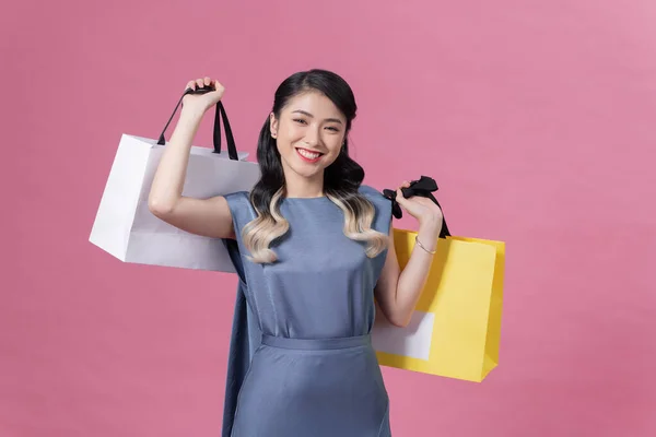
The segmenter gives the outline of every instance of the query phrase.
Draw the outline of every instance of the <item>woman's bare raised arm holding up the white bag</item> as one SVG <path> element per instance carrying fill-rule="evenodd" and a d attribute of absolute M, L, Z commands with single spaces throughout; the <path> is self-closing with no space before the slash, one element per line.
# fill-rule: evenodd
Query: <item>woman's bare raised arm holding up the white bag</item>
<path fill-rule="evenodd" d="M 191 234 L 234 238 L 232 214 L 223 196 L 196 199 L 183 196 L 189 153 L 204 113 L 223 96 L 224 87 L 210 78 L 190 81 L 191 88 L 213 85 L 215 91 L 186 95 L 179 120 L 164 147 L 149 193 L 149 210 L 160 220 Z"/>

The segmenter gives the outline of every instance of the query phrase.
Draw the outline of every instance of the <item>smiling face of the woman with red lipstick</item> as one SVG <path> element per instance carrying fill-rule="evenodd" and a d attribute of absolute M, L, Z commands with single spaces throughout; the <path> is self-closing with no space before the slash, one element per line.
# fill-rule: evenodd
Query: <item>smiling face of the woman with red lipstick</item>
<path fill-rule="evenodd" d="M 285 175 L 294 172 L 312 178 L 337 160 L 342 147 L 347 119 L 323 93 L 308 91 L 292 97 L 280 119 L 270 117 L 271 134 Z"/>

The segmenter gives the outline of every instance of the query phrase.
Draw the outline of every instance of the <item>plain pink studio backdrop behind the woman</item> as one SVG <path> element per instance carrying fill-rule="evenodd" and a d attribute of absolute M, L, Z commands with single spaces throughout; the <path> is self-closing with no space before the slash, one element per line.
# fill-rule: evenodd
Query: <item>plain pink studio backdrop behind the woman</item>
<path fill-rule="evenodd" d="M 355 91 L 367 184 L 434 176 L 454 234 L 507 243 L 500 367 L 384 368 L 395 436 L 656 435 L 655 21 L 652 0 L 3 2 L 0 436 L 219 436 L 235 277 L 89 234 L 121 133 L 155 138 L 188 80 L 225 84 L 254 154 L 312 67 Z"/>

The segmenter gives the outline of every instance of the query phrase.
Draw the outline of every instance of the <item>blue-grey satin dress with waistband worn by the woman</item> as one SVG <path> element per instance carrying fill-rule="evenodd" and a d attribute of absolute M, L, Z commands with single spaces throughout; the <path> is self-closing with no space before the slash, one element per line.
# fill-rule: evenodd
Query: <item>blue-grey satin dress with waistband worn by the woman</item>
<path fill-rule="evenodd" d="M 373 227 L 388 234 L 391 202 L 376 189 Z M 256 217 L 248 193 L 226 196 L 239 275 L 231 336 L 223 437 L 389 437 L 389 399 L 370 332 L 374 286 L 387 250 L 370 259 L 343 235 L 328 198 L 290 198 L 279 261 L 250 262 L 241 233 Z"/>

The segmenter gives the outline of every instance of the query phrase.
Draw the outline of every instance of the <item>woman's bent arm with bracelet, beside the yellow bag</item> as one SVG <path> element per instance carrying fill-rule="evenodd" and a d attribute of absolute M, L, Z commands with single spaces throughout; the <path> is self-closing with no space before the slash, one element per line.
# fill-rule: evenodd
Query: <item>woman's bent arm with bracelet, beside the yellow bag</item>
<path fill-rule="evenodd" d="M 408 187 L 403 182 L 401 187 Z M 432 200 L 423 197 L 403 198 L 397 189 L 397 202 L 410 215 L 419 221 L 419 232 L 410 259 L 401 271 L 394 248 L 394 229 L 389 226 L 389 248 L 385 265 L 374 291 L 376 302 L 390 323 L 406 327 L 426 284 L 433 253 L 442 231 L 442 211 Z M 423 245 L 423 248 L 422 248 Z"/>

